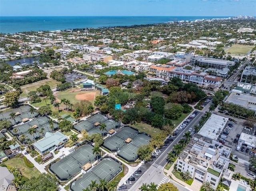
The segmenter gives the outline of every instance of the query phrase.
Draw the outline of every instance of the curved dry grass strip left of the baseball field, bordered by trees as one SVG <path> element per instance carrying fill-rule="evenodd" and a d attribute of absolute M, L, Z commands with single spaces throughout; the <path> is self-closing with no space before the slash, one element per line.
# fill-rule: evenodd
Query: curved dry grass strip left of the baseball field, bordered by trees
<path fill-rule="evenodd" d="M 30 91 L 36 91 L 36 89 L 41 85 L 48 84 L 50 87 L 56 87 L 56 85 L 58 85 L 59 83 L 60 82 L 50 78 L 50 79 L 41 80 L 32 84 L 27 84 L 20 87 L 22 90 L 22 94 L 20 96 L 26 96 L 27 93 L 29 93 Z"/>

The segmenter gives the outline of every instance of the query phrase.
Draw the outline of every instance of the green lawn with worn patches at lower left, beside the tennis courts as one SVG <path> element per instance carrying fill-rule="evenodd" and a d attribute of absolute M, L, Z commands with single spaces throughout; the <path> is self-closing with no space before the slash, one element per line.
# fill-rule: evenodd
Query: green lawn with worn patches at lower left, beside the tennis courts
<path fill-rule="evenodd" d="M 27 167 L 27 165 L 25 164 L 22 158 L 12 158 L 10 160 L 5 161 L 4 163 L 6 165 L 14 166 L 18 168 L 22 173 L 22 175 L 24 175 L 29 179 L 32 177 L 38 177 L 40 175 L 40 172 L 35 167 L 33 168 Z"/>

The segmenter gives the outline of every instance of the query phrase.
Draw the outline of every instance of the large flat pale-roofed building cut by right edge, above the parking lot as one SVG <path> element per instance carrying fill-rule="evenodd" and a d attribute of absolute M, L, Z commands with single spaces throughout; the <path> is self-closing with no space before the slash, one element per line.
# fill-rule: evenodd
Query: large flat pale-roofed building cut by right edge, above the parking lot
<path fill-rule="evenodd" d="M 232 90 L 226 102 L 240 105 L 246 109 L 256 110 L 256 96 L 242 93 L 240 90 Z"/>

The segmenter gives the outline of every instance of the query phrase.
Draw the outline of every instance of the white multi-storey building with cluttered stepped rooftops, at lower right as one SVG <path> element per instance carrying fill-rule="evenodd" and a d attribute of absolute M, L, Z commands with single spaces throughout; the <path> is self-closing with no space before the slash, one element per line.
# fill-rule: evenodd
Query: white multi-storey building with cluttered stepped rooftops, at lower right
<path fill-rule="evenodd" d="M 228 169 L 231 148 L 213 141 L 204 142 L 195 138 L 177 160 L 177 171 L 190 172 L 192 179 L 209 181 L 216 189 L 222 173 Z"/>

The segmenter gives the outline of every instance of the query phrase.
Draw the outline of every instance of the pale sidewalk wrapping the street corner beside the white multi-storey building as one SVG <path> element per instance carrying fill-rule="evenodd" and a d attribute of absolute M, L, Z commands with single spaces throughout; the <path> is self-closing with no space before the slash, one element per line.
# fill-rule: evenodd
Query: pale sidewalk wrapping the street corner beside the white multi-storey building
<path fill-rule="evenodd" d="M 179 183 L 180 185 L 183 185 L 183 186 L 184 186 L 186 189 L 188 189 L 188 190 L 191 190 L 191 191 L 198 191 L 198 190 L 200 190 L 200 187 L 201 187 L 202 183 L 199 182 L 199 181 L 197 181 L 196 179 L 194 179 L 194 181 L 193 181 L 193 183 L 192 183 L 191 185 L 188 185 L 188 184 L 185 183 L 184 181 L 182 181 L 182 180 L 176 178 L 176 177 L 174 176 L 174 174 L 172 173 L 173 168 L 174 168 L 174 164 L 176 164 L 176 161 L 172 164 L 172 166 L 170 167 L 169 170 L 167 170 L 167 169 L 164 168 L 164 172 L 166 173 L 166 176 L 169 178 L 169 175 L 170 175 L 170 177 L 171 177 L 174 181 L 176 181 L 176 182 Z"/>

